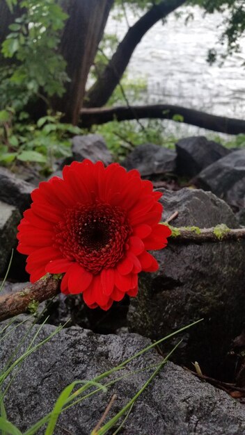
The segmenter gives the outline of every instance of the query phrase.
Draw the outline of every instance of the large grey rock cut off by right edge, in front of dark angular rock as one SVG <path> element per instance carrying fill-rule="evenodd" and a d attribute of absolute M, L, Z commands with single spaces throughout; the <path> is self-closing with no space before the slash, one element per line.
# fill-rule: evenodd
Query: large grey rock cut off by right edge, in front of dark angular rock
<path fill-rule="evenodd" d="M 195 183 L 230 206 L 245 208 L 245 149 L 233 151 L 198 174 Z"/>

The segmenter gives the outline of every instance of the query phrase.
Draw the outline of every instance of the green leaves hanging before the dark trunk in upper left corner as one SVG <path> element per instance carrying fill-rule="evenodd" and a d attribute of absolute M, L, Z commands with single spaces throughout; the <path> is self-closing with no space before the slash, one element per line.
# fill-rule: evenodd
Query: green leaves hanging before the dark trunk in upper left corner
<path fill-rule="evenodd" d="M 7 3 L 11 10 L 16 1 Z M 1 54 L 11 62 L 0 68 L 0 109 L 21 110 L 40 93 L 61 96 L 68 80 L 65 60 L 57 51 L 68 15 L 54 0 L 22 0 L 19 7 L 23 13 L 10 24 L 1 47 Z"/>

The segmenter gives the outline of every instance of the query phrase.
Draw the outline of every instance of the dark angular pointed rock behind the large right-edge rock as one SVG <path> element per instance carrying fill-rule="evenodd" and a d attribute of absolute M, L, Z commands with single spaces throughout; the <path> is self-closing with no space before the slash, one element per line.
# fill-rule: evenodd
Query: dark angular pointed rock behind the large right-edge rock
<path fill-rule="evenodd" d="M 177 152 L 176 172 L 184 177 L 195 177 L 205 167 L 219 160 L 230 150 L 205 136 L 184 138 L 175 145 Z"/>

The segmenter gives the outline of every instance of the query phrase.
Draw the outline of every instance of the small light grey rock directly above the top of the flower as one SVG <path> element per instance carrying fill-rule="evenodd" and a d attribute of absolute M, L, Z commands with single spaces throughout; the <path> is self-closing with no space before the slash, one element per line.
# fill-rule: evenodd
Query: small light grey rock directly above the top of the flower
<path fill-rule="evenodd" d="M 89 158 L 93 163 L 102 161 L 105 165 L 112 163 L 112 156 L 107 149 L 102 136 L 88 134 L 86 136 L 74 136 L 72 138 L 73 160 L 82 161 Z"/>

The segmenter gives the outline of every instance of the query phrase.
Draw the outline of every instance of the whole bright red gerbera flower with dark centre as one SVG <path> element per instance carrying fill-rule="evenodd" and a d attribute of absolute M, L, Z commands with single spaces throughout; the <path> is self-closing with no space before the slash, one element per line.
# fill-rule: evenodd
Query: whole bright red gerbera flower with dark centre
<path fill-rule="evenodd" d="M 61 291 L 82 293 L 90 307 L 107 310 L 125 294 L 136 296 L 141 270 L 158 269 L 148 249 L 162 249 L 168 227 L 159 224 L 161 192 L 136 170 L 85 160 L 33 190 L 19 224 L 31 282 L 47 272 L 65 273 Z"/>

